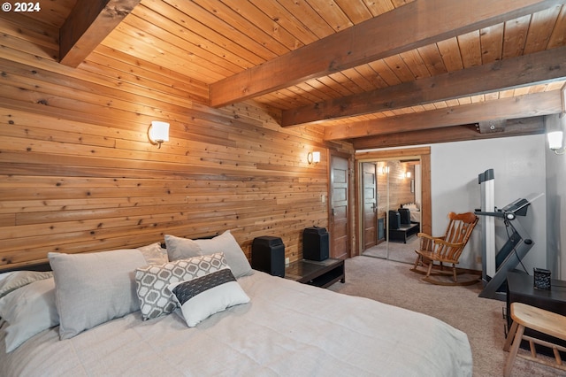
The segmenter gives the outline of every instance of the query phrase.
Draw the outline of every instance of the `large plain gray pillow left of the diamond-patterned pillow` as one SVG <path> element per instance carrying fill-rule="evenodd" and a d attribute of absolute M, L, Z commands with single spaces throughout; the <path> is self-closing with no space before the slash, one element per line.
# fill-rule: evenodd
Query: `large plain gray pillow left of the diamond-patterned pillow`
<path fill-rule="evenodd" d="M 140 250 L 50 252 L 48 257 L 55 278 L 61 340 L 140 310 L 134 271 L 147 265 Z"/>

